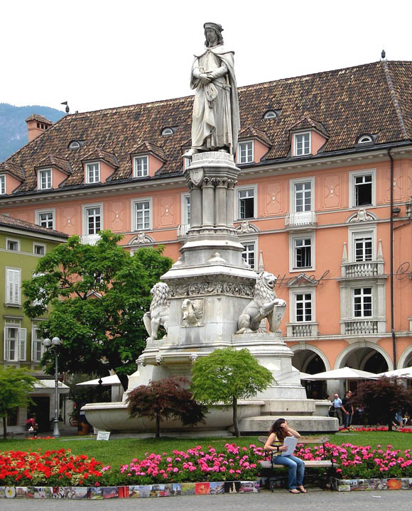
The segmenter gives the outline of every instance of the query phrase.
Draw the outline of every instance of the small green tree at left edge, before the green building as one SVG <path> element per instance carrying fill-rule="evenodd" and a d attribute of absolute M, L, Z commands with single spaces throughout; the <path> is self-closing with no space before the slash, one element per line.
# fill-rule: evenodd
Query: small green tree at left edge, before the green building
<path fill-rule="evenodd" d="M 0 370 L 0 417 L 3 419 L 3 437 L 7 438 L 7 415 L 16 407 L 26 407 L 31 402 L 31 392 L 36 378 L 27 369 L 8 367 Z"/>

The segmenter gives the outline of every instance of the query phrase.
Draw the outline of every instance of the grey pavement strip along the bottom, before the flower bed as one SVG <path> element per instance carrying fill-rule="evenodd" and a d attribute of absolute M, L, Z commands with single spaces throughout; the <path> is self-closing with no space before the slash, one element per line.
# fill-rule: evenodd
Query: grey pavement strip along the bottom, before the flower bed
<path fill-rule="evenodd" d="M 259 495 L 193 495 L 167 498 L 113 500 L 16 500 L 2 499 L 1 511 L 411 511 L 412 491 L 364 491 L 337 493 L 309 490 L 306 495 L 292 495 L 286 490 Z"/>

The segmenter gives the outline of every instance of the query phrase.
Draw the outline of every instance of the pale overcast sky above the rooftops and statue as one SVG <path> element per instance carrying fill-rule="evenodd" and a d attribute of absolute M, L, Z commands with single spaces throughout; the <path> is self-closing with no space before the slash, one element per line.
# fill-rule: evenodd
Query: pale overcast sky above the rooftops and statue
<path fill-rule="evenodd" d="M 89 111 L 191 94 L 203 23 L 224 28 L 238 86 L 412 60 L 410 0 L 1 2 L 0 102 Z"/>

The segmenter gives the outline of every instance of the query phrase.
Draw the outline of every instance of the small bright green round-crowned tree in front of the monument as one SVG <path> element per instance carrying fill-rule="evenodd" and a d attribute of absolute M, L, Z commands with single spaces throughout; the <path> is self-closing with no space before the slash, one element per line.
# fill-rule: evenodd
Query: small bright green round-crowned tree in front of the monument
<path fill-rule="evenodd" d="M 273 381 L 271 371 L 247 349 L 217 349 L 198 358 L 192 368 L 193 397 L 205 405 L 232 405 L 236 436 L 240 436 L 237 401 L 254 397 Z"/>

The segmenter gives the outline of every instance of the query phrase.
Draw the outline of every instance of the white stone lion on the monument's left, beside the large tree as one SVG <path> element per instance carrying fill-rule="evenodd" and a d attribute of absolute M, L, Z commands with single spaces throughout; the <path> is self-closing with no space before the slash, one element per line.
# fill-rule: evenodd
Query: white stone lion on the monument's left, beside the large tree
<path fill-rule="evenodd" d="M 150 304 L 149 312 L 143 316 L 143 323 L 149 334 L 148 341 L 158 339 L 159 326 L 163 326 L 168 333 L 168 321 L 170 310 L 170 290 L 165 282 L 157 282 L 151 290 L 153 300 Z"/>

